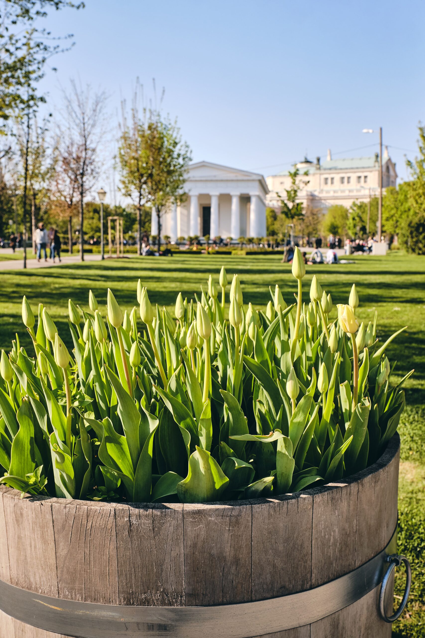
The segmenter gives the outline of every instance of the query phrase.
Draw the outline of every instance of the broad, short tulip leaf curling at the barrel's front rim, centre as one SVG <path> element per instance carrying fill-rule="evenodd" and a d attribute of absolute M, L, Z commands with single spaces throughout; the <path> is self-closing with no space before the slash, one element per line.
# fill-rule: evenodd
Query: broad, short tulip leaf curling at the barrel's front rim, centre
<path fill-rule="evenodd" d="M 187 477 L 177 484 L 177 494 L 182 503 L 208 503 L 219 500 L 228 484 L 229 479 L 210 452 L 197 445 L 189 459 Z"/>

